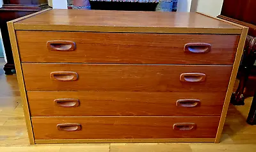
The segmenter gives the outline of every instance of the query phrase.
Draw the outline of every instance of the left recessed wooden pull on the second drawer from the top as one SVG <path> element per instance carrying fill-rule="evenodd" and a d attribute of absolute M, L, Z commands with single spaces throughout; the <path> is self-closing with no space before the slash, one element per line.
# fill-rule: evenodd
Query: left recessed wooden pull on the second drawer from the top
<path fill-rule="evenodd" d="M 77 80 L 78 74 L 76 72 L 51 72 L 52 80 Z"/>

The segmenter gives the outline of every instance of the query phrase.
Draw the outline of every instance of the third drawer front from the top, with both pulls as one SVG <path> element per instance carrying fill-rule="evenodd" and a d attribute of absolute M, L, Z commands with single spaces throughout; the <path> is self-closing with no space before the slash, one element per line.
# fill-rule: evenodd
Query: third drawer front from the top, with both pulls
<path fill-rule="evenodd" d="M 220 116 L 222 93 L 27 92 L 31 116 Z"/>

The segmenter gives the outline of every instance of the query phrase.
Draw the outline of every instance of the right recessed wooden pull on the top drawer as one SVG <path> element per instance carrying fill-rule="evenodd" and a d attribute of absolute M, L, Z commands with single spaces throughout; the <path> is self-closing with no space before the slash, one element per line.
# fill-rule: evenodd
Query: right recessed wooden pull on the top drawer
<path fill-rule="evenodd" d="M 208 43 L 187 43 L 184 52 L 190 53 L 207 53 L 212 49 L 212 45 Z"/>

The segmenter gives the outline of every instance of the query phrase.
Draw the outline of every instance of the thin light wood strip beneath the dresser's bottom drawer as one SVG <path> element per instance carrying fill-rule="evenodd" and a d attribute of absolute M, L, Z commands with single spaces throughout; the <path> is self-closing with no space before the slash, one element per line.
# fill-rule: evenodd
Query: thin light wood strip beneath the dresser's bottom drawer
<path fill-rule="evenodd" d="M 71 144 L 71 143 L 128 143 L 128 142 L 214 142 L 214 138 L 205 139 L 36 139 L 36 144 Z"/>

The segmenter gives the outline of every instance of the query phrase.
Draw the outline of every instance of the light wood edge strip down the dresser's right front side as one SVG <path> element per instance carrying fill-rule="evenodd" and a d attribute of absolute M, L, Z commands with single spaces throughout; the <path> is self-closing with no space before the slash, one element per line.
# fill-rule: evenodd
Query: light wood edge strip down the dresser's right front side
<path fill-rule="evenodd" d="M 230 103 L 230 98 L 231 98 L 231 95 L 233 92 L 233 87 L 234 87 L 234 84 L 236 81 L 236 75 L 237 75 L 237 71 L 239 68 L 240 61 L 241 61 L 241 56 L 243 54 L 244 42 L 246 40 L 247 33 L 248 33 L 248 27 L 243 27 L 243 31 L 240 36 L 239 44 L 237 47 L 237 52 L 236 52 L 236 57 L 235 57 L 231 77 L 230 77 L 229 84 L 228 84 L 227 94 L 225 96 L 225 102 L 224 102 L 223 109 L 221 112 L 220 123 L 218 126 L 218 131 L 217 131 L 216 139 L 215 139 L 216 143 L 220 142 L 220 137 L 221 137 L 224 123 L 225 123 L 225 118 L 227 116 L 228 105 Z"/>

